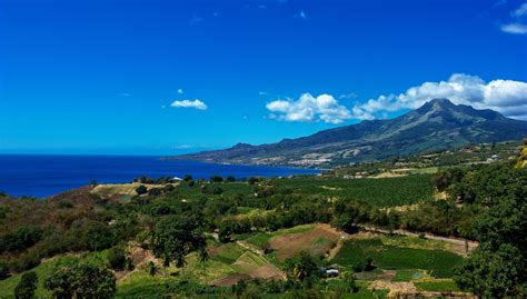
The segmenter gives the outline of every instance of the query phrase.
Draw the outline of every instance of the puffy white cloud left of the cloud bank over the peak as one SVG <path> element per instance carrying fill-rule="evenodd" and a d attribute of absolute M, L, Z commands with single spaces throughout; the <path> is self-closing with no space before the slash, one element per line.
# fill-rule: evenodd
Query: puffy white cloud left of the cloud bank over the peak
<path fill-rule="evenodd" d="M 276 100 L 267 103 L 266 108 L 271 112 L 269 118 L 285 121 L 341 123 L 351 118 L 350 111 L 330 94 L 315 98 L 310 93 L 304 93 L 296 101 Z"/>

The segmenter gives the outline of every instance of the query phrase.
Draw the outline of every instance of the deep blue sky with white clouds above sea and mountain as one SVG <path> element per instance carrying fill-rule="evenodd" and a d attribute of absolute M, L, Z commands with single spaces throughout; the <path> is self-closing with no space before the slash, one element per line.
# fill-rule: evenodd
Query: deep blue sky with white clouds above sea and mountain
<path fill-rule="evenodd" d="M 0 153 L 259 144 L 432 98 L 527 119 L 527 1 L 0 0 Z"/>

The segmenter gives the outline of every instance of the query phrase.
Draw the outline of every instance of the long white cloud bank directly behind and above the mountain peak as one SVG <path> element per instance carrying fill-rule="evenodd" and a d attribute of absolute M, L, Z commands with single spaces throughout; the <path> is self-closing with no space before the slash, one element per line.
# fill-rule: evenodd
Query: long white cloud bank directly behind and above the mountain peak
<path fill-rule="evenodd" d="M 485 82 L 477 76 L 465 73 L 454 73 L 447 81 L 425 82 L 405 93 L 380 96 L 356 104 L 352 118 L 372 119 L 382 112 L 416 109 L 437 98 L 476 109 L 493 109 L 507 117 L 527 118 L 527 82 L 503 79 Z"/>

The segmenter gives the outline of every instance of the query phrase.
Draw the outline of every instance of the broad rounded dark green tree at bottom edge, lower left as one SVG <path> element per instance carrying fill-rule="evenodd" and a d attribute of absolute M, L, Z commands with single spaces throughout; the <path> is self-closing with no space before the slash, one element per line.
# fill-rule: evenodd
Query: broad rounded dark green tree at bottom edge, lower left
<path fill-rule="evenodd" d="M 46 289 L 53 298 L 113 298 L 116 277 L 106 267 L 77 262 L 73 266 L 57 268 L 44 281 Z"/>

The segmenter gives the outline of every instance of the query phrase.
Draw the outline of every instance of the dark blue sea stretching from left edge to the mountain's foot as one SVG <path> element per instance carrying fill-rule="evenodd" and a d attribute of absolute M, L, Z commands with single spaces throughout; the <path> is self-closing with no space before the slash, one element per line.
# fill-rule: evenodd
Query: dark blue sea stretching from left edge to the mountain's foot
<path fill-rule="evenodd" d="M 285 167 L 169 161 L 159 157 L 0 155 L 0 191 L 17 197 L 43 198 L 88 185 L 91 180 L 111 183 L 129 182 L 141 176 L 159 178 L 189 173 L 193 178 L 208 179 L 216 175 L 249 178 L 318 172 Z"/>

